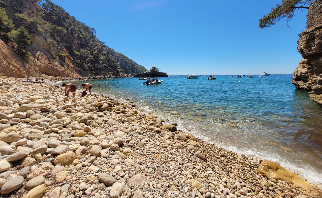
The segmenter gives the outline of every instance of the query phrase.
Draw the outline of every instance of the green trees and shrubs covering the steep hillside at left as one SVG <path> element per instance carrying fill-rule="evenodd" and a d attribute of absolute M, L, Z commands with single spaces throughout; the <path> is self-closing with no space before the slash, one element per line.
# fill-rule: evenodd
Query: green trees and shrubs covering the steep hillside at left
<path fill-rule="evenodd" d="M 18 51 L 21 48 L 25 52 L 19 53 L 20 56 L 30 55 L 31 46 L 28 45 L 33 42 L 32 35 L 35 35 L 50 44 L 50 61 L 59 63 L 66 71 L 71 66 L 79 68 L 80 75 L 121 76 L 147 71 L 109 48 L 96 37 L 93 28 L 49 0 L 2 0 L 0 5 L 1 39 L 7 44 L 16 43 L 15 49 Z"/>

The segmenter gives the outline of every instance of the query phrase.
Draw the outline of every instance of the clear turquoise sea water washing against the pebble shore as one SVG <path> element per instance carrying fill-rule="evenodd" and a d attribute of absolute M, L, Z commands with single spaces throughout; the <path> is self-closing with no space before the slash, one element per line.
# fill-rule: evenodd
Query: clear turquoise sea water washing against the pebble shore
<path fill-rule="evenodd" d="M 237 153 L 278 162 L 322 184 L 322 108 L 290 83 L 292 75 L 216 80 L 137 78 L 87 80 L 93 93 L 132 100 L 147 113 L 177 122 L 206 141 Z M 240 82 L 237 82 L 240 81 Z M 81 81 L 73 81 L 81 87 Z M 230 124 L 236 124 L 238 128 Z"/>

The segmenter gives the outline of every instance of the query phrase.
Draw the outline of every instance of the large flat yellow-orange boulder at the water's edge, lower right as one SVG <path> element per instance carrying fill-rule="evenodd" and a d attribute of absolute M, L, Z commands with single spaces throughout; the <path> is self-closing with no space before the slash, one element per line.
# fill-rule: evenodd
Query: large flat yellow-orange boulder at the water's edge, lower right
<path fill-rule="evenodd" d="M 258 167 L 258 172 L 264 174 L 269 179 L 287 181 L 290 184 L 302 187 L 308 191 L 316 189 L 314 185 L 308 183 L 297 174 L 290 172 L 275 162 L 263 160 Z"/>

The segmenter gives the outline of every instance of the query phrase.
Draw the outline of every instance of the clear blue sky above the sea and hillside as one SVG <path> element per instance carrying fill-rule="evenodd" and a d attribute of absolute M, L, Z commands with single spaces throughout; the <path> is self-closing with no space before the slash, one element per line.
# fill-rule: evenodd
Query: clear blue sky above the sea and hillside
<path fill-rule="evenodd" d="M 297 41 L 306 10 L 296 12 L 289 27 L 284 19 L 258 27 L 281 0 L 52 2 L 94 28 L 109 47 L 168 75 L 292 74 L 302 59 Z"/>

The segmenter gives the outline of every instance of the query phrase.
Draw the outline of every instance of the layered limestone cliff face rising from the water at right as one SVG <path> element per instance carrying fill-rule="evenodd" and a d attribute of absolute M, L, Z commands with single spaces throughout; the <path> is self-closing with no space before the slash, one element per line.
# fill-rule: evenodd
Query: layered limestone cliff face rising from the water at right
<path fill-rule="evenodd" d="M 311 3 L 307 15 L 307 30 L 299 34 L 298 52 L 302 55 L 293 73 L 297 89 L 309 92 L 312 101 L 322 105 L 322 0 Z"/>

